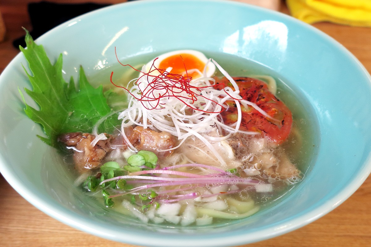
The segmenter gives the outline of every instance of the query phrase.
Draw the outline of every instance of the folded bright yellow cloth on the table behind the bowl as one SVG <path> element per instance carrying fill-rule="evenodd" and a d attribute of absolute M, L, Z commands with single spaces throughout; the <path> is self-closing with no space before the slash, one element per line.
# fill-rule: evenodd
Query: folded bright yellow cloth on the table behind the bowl
<path fill-rule="evenodd" d="M 331 21 L 371 27 L 371 0 L 287 0 L 291 15 L 306 23 Z"/>

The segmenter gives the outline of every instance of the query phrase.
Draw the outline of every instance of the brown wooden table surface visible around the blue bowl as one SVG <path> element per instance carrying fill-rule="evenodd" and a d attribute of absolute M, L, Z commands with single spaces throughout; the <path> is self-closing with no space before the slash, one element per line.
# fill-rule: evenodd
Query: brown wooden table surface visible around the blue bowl
<path fill-rule="evenodd" d="M 0 43 L 0 73 L 18 53 L 12 40 L 24 34 L 21 27 L 32 30 L 27 1 L 1 2 L 0 12 L 7 34 L 6 40 Z M 288 13 L 284 5 L 280 11 Z M 371 28 L 332 23 L 313 26 L 344 45 L 371 72 Z M 24 200 L 2 176 L 0 191 L 0 246 L 135 247 L 91 236 L 60 223 Z M 371 246 L 371 176 L 347 201 L 313 223 L 283 236 L 240 247 L 263 246 Z"/>

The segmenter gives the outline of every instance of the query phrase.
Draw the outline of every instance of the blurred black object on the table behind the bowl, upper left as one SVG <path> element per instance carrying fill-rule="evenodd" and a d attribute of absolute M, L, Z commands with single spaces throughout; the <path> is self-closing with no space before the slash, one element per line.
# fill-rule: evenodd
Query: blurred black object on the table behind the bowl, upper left
<path fill-rule="evenodd" d="M 41 1 L 28 4 L 28 13 L 32 24 L 30 34 L 33 39 L 46 33 L 53 27 L 62 24 L 76 16 L 90 11 L 109 6 L 110 4 L 82 3 L 82 4 L 58 4 Z M 24 36 L 13 41 L 13 46 L 26 46 Z"/>

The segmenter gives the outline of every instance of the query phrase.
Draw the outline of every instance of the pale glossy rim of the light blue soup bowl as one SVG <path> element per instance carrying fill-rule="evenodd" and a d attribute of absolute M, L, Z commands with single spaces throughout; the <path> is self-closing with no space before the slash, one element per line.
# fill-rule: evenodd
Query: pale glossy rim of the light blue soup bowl
<path fill-rule="evenodd" d="M 348 51 L 342 44 L 338 43 L 338 41 L 328 36 L 327 34 L 323 33 L 322 31 L 316 29 L 315 27 L 309 24 L 303 23 L 302 21 L 299 21 L 291 16 L 288 16 L 286 14 L 283 14 L 277 11 L 263 9 L 261 7 L 251 6 L 249 4 L 233 2 L 233 1 L 228 1 L 228 0 L 177 0 L 177 1 L 192 2 L 192 3 L 197 3 L 197 2 L 214 3 L 215 2 L 215 3 L 221 3 L 221 4 L 227 4 L 227 5 L 236 5 L 236 6 L 241 6 L 241 7 L 250 8 L 256 11 L 260 11 L 261 13 L 268 14 L 269 16 L 274 16 L 280 20 L 294 22 L 298 24 L 298 26 L 303 27 L 304 29 L 311 30 L 316 35 L 321 36 L 322 38 L 326 39 L 329 43 L 331 43 L 333 46 L 337 47 L 339 51 L 345 54 L 350 60 L 355 62 L 357 66 L 366 75 L 368 75 L 368 80 L 371 83 L 371 76 L 368 73 L 368 71 L 361 64 L 361 62 L 350 51 Z M 83 19 L 89 18 L 90 16 L 94 16 L 97 12 L 109 11 L 110 9 L 122 8 L 123 6 L 128 6 L 128 5 L 147 5 L 147 4 L 165 3 L 165 2 L 176 2 L 176 1 L 137 0 L 137 1 L 119 3 L 119 4 L 114 4 L 111 6 L 103 7 L 101 9 L 94 10 L 89 13 L 83 14 L 81 16 L 75 17 L 71 20 L 66 21 L 65 23 L 58 25 L 57 27 L 53 28 L 50 31 L 47 31 L 45 34 L 43 34 L 38 39 L 36 39 L 36 42 L 42 43 L 42 40 L 45 37 L 53 35 L 54 32 L 57 32 L 60 29 L 63 29 L 66 26 L 66 23 L 70 23 L 77 19 L 83 20 Z M 0 81 L 1 81 L 1 77 L 9 73 L 9 71 L 12 70 L 12 67 L 14 66 L 14 64 L 18 63 L 18 61 L 22 59 L 22 56 L 23 55 L 20 52 L 17 54 L 16 57 L 13 58 L 13 60 L 9 63 L 9 65 L 4 69 L 4 71 L 0 75 Z M 87 228 L 86 226 L 90 224 L 88 220 L 82 217 L 79 217 L 78 214 L 75 214 L 70 211 L 66 211 L 58 203 L 53 203 L 51 205 L 50 201 L 46 201 L 44 200 L 44 198 L 37 196 L 37 194 L 34 191 L 27 188 L 24 184 L 19 183 L 16 174 L 13 174 L 12 169 L 7 167 L 6 163 L 7 163 L 6 158 L 0 155 L 0 172 L 3 175 L 3 177 L 14 188 L 14 190 L 17 191 L 17 193 L 19 193 L 22 197 L 24 197 L 27 201 L 29 201 L 33 206 L 43 211 L 50 217 L 53 217 L 61 221 L 62 223 L 67 224 L 68 226 L 77 228 L 79 230 L 82 230 L 87 233 L 93 234 L 95 236 L 99 236 L 99 237 L 106 238 L 109 240 L 120 241 L 120 242 L 129 243 L 129 244 L 143 245 L 143 246 L 148 246 L 148 243 L 151 243 L 150 246 L 158 246 L 158 247 L 231 246 L 231 245 L 254 243 L 257 241 L 266 240 L 268 238 L 272 238 L 272 237 L 276 237 L 276 236 L 288 233 L 289 231 L 293 231 L 302 226 L 305 226 L 306 224 L 309 224 L 315 221 L 316 219 L 324 216 L 325 214 L 329 213 L 330 211 L 334 210 L 341 203 L 347 200 L 347 198 L 349 198 L 362 185 L 362 183 L 366 180 L 366 178 L 371 173 L 371 154 L 369 153 L 367 160 L 364 162 L 364 166 L 362 167 L 361 170 L 359 170 L 357 176 L 354 176 L 354 178 L 347 184 L 347 186 L 342 188 L 338 194 L 330 198 L 325 203 L 313 208 L 312 210 L 302 214 L 301 216 L 288 220 L 284 222 L 284 224 L 280 224 L 278 226 L 273 226 L 273 227 L 272 226 L 267 227 L 262 230 L 257 230 L 253 233 L 241 234 L 239 236 L 224 236 L 223 234 L 220 234 L 218 236 L 213 235 L 214 241 L 210 241 L 208 238 L 200 241 L 200 239 L 196 239 L 196 240 L 192 240 L 191 238 L 183 239 L 182 236 L 175 236 L 175 237 L 173 236 L 167 239 L 164 239 L 162 237 L 158 237 L 156 239 L 154 239 L 153 237 L 147 238 L 142 235 L 133 236 L 131 233 L 130 234 L 120 233 L 121 236 L 117 236 L 116 234 L 105 233 L 104 231 L 102 231 L 104 230 L 103 228 L 99 228 L 99 227 L 97 228 L 88 227 Z M 71 217 L 72 214 L 75 214 L 76 218 Z M 186 241 L 181 241 L 181 240 L 186 240 Z"/>

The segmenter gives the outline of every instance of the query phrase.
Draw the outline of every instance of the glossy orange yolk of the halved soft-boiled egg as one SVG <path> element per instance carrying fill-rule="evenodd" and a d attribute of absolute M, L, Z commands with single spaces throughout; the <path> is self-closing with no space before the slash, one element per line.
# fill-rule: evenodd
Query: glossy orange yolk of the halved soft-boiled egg
<path fill-rule="evenodd" d="M 181 74 L 183 76 L 186 76 L 186 69 L 188 72 L 188 76 L 200 77 L 200 74 L 198 72 L 190 70 L 198 69 L 202 73 L 205 67 L 205 63 L 192 54 L 182 53 L 165 58 L 161 61 L 158 69 L 167 69 L 168 67 L 173 68 L 170 71 L 170 73 L 172 74 Z"/>

